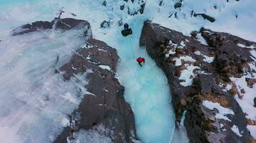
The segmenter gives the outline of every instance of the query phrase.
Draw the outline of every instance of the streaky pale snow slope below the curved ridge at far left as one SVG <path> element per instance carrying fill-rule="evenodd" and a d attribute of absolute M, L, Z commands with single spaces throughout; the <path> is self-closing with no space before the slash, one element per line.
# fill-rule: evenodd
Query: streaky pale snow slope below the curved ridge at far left
<path fill-rule="evenodd" d="M 1 41 L 0 142 L 52 142 L 60 134 L 87 82 L 86 74 L 64 82 L 55 69 L 83 43 L 80 35 L 49 30 Z"/>

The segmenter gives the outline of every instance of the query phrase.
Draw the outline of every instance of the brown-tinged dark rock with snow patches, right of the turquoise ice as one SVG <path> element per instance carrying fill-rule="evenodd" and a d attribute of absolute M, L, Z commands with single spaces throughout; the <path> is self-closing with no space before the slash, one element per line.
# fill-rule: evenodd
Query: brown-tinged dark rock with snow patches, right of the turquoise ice
<path fill-rule="evenodd" d="M 186 110 L 184 125 L 190 142 L 253 142 L 245 114 L 234 99 L 232 90 L 224 91 L 219 84 L 226 85 L 230 82 L 229 77 L 242 77 L 245 72 L 252 72 L 248 66 L 254 62 L 250 50 L 242 49 L 237 43 L 256 44 L 209 29 L 193 32 L 194 36 L 197 34 L 204 36 L 209 45 L 201 44 L 196 37 L 184 36 L 149 21 L 142 29 L 140 46 L 146 46 L 148 54 L 168 77 L 177 123 Z M 184 56 L 191 60 L 182 59 Z M 211 58 L 212 61 L 209 60 Z M 180 79 L 181 74 L 189 70 L 191 76 Z M 186 80 L 191 80 L 191 83 Z M 234 115 L 227 114 L 228 119 L 216 118 L 218 109 L 206 108 L 202 104 L 204 101 L 232 109 Z M 233 125 L 239 128 L 242 137 L 232 132 Z"/>

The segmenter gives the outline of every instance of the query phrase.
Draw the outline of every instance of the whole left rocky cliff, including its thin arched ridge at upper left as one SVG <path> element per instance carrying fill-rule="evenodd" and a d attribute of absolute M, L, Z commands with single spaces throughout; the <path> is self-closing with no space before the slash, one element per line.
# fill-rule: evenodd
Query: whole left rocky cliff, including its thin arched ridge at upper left
<path fill-rule="evenodd" d="M 139 142 L 134 127 L 134 114 L 124 101 L 124 87 L 116 79 L 119 56 L 116 50 L 103 41 L 92 39 L 91 26 L 87 21 L 60 19 L 36 21 L 19 26 L 12 36 L 44 30 L 81 30 L 84 45 L 74 51 L 68 63 L 55 70 L 63 74 L 63 80 L 82 75 L 86 79 L 78 109 L 68 115 L 69 124 L 55 142 Z M 58 62 L 57 57 L 56 62 Z M 80 82 L 79 79 L 77 79 Z"/>

